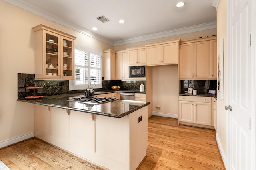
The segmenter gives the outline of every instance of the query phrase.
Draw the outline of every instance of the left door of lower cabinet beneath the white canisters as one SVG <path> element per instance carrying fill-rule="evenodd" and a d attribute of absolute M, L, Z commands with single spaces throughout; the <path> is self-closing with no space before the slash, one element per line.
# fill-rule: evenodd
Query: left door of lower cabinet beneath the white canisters
<path fill-rule="evenodd" d="M 194 123 L 194 102 L 179 101 L 179 121 Z"/>

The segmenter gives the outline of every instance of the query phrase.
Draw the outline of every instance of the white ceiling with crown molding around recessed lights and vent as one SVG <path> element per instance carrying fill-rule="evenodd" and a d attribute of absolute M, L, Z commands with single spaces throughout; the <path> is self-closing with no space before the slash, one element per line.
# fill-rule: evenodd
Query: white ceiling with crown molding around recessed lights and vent
<path fill-rule="evenodd" d="M 183 1 L 185 6 L 176 8 Z M 110 45 L 216 28 L 212 0 L 5 0 Z M 104 15 L 110 21 L 96 18 Z M 124 24 L 118 23 L 123 19 Z M 93 31 L 92 27 L 97 27 Z"/>

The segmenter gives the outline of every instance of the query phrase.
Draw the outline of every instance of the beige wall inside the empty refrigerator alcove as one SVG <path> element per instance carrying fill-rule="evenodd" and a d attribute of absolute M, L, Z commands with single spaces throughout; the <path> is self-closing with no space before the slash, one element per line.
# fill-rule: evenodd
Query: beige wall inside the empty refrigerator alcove
<path fill-rule="evenodd" d="M 153 67 L 152 78 L 152 111 L 178 116 L 178 66 Z M 160 111 L 156 106 L 160 106 Z"/>

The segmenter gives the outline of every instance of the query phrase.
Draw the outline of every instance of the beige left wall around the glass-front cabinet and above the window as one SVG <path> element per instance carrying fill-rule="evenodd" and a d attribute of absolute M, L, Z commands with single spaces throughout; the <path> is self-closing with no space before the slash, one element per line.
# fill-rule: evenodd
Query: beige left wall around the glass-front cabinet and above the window
<path fill-rule="evenodd" d="M 76 36 L 75 43 L 99 51 L 111 45 L 0 1 L 0 141 L 34 132 L 34 105 L 18 102 L 17 73 L 34 74 L 34 32 L 43 24 Z"/>

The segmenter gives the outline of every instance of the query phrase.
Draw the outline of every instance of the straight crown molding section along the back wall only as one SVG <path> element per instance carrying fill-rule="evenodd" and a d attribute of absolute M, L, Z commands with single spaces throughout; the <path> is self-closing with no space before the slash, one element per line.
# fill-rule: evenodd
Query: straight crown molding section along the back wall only
<path fill-rule="evenodd" d="M 180 28 L 180 29 L 174 29 L 174 30 L 170 30 L 170 31 L 164 31 L 164 32 L 160 32 L 160 33 L 145 35 L 145 36 L 141 36 L 141 37 L 134 37 L 134 38 L 130 38 L 130 39 L 115 41 L 114 46 L 136 43 L 136 42 L 140 42 L 140 41 L 147 41 L 147 40 L 151 40 L 151 39 L 171 37 L 171 36 L 174 36 L 174 35 L 192 33 L 192 32 L 197 32 L 197 31 L 204 31 L 204 30 L 207 30 L 207 29 L 215 29 L 215 28 L 217 28 L 217 22 L 216 21 L 209 22 L 209 23 L 204 23 L 204 24 L 200 24 L 200 25 L 194 25 L 194 26 L 191 26 L 191 27 L 184 27 L 184 28 Z"/>

